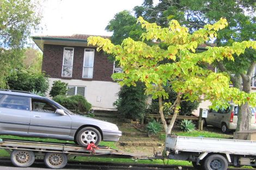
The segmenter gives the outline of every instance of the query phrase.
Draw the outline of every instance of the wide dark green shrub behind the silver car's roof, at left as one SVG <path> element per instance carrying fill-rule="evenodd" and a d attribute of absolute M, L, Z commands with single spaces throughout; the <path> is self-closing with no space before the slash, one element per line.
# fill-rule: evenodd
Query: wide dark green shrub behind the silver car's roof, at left
<path fill-rule="evenodd" d="M 46 93 L 49 87 L 48 78 L 44 73 L 19 71 L 7 78 L 10 89 L 21 91 L 37 91 Z"/>

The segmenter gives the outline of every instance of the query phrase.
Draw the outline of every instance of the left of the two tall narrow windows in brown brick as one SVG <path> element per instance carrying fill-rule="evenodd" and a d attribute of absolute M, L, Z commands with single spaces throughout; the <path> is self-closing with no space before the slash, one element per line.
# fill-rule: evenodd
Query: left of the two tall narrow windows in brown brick
<path fill-rule="evenodd" d="M 64 48 L 62 77 L 72 77 L 74 48 Z"/>

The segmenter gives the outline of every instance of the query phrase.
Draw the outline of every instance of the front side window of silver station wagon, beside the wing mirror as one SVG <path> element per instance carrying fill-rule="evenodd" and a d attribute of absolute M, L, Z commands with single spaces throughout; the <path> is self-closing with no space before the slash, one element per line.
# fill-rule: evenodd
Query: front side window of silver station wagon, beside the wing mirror
<path fill-rule="evenodd" d="M 32 99 L 32 111 L 54 113 L 56 107 L 45 100 Z"/>

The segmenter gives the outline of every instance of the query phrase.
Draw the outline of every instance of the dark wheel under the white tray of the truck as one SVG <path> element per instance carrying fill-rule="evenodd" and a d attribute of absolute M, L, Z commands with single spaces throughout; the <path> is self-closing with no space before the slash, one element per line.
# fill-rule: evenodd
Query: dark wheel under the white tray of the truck
<path fill-rule="evenodd" d="M 214 154 L 204 161 L 205 170 L 227 170 L 228 161 L 222 155 Z"/>

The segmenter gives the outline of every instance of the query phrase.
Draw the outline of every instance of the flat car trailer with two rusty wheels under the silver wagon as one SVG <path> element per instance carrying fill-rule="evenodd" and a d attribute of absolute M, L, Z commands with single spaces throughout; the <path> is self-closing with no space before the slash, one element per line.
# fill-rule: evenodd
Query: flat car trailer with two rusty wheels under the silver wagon
<path fill-rule="evenodd" d="M 98 146 L 94 150 L 87 150 L 77 144 L 11 139 L 3 139 L 0 141 L 0 149 L 5 149 L 10 153 L 11 162 L 17 167 L 31 166 L 35 161 L 35 156 L 44 157 L 45 165 L 48 168 L 54 169 L 65 167 L 66 163 L 68 163 L 68 158 L 71 156 L 149 159 L 149 157 L 143 157 L 104 146 Z"/>

